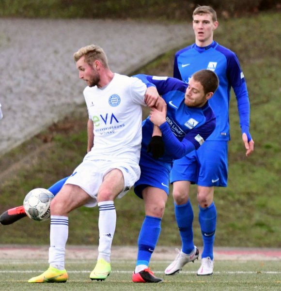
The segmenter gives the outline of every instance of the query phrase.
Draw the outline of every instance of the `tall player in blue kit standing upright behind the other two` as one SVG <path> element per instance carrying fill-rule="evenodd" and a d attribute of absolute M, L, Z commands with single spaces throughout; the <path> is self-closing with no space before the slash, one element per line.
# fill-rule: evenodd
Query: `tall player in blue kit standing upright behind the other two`
<path fill-rule="evenodd" d="M 166 268 L 166 275 L 178 273 L 190 261 L 188 254 L 194 249 L 193 210 L 189 200 L 190 184 L 198 185 L 199 223 L 203 237 L 202 264 L 197 275 L 213 274 L 213 245 L 217 223 L 217 210 L 213 198 L 215 186 L 227 186 L 231 87 L 237 99 L 246 156 L 254 149 L 254 141 L 249 131 L 250 102 L 245 77 L 235 53 L 213 40 L 213 33 L 218 25 L 217 15 L 213 8 L 198 6 L 193 12 L 195 43 L 175 54 L 174 77 L 188 83 L 194 72 L 209 69 L 218 75 L 219 89 L 209 101 L 216 114 L 215 131 L 198 151 L 176 160 L 172 168 L 171 183 L 173 184 L 175 217 L 182 240 L 182 249 Z"/>

